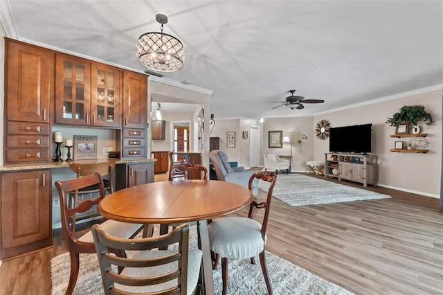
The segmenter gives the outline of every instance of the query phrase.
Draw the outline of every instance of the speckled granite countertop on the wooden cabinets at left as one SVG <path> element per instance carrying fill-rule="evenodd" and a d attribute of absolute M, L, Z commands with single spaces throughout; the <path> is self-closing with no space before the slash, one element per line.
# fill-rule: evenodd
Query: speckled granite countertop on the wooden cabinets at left
<path fill-rule="evenodd" d="M 89 159 L 78 160 L 72 162 L 49 162 L 49 163 L 26 163 L 26 164 L 14 164 L 0 166 L 0 172 L 19 171 L 19 170 L 37 170 L 37 169 L 55 169 L 55 168 L 68 168 L 71 163 L 146 163 L 155 162 L 156 159 Z"/>

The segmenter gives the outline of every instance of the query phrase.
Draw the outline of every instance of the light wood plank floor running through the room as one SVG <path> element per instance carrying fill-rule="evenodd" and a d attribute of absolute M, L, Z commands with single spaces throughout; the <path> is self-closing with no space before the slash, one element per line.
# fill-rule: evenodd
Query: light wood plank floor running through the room
<path fill-rule="evenodd" d="M 443 294 L 439 200 L 368 189 L 392 198 L 298 207 L 273 199 L 266 249 L 355 294 Z M 61 231 L 53 235 L 53 248 L 3 262 L 0 294 L 51 294 L 51 258 L 66 251 Z"/>

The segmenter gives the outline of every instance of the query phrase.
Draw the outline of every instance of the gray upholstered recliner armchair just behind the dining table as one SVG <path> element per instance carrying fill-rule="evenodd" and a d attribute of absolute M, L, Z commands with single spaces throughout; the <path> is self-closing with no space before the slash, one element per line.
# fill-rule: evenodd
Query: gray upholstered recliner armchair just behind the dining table
<path fill-rule="evenodd" d="M 209 153 L 211 161 L 213 161 L 213 166 L 217 179 L 221 181 L 233 182 L 248 188 L 248 182 L 251 175 L 253 175 L 256 170 L 246 170 L 244 167 L 230 167 L 228 162 L 228 156 L 221 150 L 213 150 Z M 253 181 L 253 194 L 258 193 L 258 179 Z"/>

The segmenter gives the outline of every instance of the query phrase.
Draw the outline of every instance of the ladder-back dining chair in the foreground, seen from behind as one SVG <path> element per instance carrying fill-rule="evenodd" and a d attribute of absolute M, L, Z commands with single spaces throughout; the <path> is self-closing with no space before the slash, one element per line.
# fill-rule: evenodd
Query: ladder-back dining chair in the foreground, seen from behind
<path fill-rule="evenodd" d="M 199 249 L 188 249 L 187 224 L 154 238 L 123 239 L 92 227 L 93 240 L 102 274 L 105 294 L 195 294 L 200 289 Z M 170 250 L 156 250 L 179 243 Z M 127 258 L 112 255 L 111 249 L 125 251 Z M 123 270 L 118 274 L 117 267 Z"/>

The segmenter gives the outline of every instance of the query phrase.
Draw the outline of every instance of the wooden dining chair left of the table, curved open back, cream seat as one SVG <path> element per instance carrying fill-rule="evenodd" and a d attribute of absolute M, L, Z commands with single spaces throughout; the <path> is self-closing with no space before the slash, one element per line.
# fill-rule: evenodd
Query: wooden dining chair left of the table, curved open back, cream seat
<path fill-rule="evenodd" d="M 76 190 L 88 188 L 91 186 L 98 186 L 99 195 L 92 199 L 84 199 L 79 201 L 75 206 L 69 208 L 69 195 Z M 86 233 L 78 233 L 75 231 L 75 218 L 78 213 L 89 211 L 93 206 L 97 205 L 100 200 L 105 197 L 105 186 L 103 179 L 99 173 L 88 175 L 85 177 L 68 179 L 64 181 L 55 181 L 60 196 L 60 212 L 62 215 L 62 230 L 66 246 L 69 249 L 69 256 L 71 258 L 71 274 L 69 276 L 69 283 L 66 289 L 66 294 L 72 294 L 77 282 L 78 271 L 80 266 L 79 253 L 96 253 L 91 231 Z M 142 224 L 132 224 L 127 222 L 118 222 L 115 220 L 106 220 L 102 222 L 101 226 L 105 231 L 116 235 L 120 238 L 134 238 L 144 226 Z M 78 237 L 78 235 L 80 235 Z M 125 253 L 116 251 L 116 255 L 125 256 Z"/>

